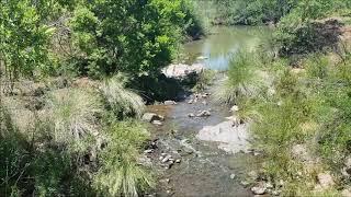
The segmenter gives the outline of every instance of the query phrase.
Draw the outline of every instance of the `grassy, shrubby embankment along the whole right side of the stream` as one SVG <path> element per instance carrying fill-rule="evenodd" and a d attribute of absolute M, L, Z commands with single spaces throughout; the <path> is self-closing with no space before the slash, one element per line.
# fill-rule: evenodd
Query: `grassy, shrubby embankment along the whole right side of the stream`
<path fill-rule="evenodd" d="M 263 152 L 258 181 L 286 196 L 350 187 L 350 12 L 326 13 L 305 22 L 294 12 L 283 18 L 270 49 L 237 54 L 218 91 L 219 102 L 237 105 L 236 115 L 252 123 Z M 322 183 L 326 174 L 332 182 Z"/>

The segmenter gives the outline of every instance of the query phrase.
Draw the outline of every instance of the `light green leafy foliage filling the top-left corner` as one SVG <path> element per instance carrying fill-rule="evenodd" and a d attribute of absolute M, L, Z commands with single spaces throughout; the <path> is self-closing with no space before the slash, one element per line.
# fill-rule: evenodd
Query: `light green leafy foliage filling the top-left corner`
<path fill-rule="evenodd" d="M 46 15 L 42 12 L 50 2 L 0 1 L 0 59 L 11 80 L 49 66 L 48 43 L 54 28 L 43 23 Z"/>

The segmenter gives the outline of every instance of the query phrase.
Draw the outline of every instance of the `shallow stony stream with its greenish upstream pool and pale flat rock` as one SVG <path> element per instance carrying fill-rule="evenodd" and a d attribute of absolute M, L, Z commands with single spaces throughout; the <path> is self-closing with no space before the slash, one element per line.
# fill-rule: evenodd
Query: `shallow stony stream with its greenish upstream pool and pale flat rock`
<path fill-rule="evenodd" d="M 206 38 L 185 44 L 182 56 L 186 63 L 225 71 L 236 51 L 253 50 L 268 35 L 265 27 L 214 27 Z M 152 196 L 253 196 L 242 184 L 257 167 L 257 158 L 248 153 L 248 126 L 230 125 L 226 118 L 230 107 L 214 102 L 213 93 L 224 78 L 218 73 L 204 93 L 176 105 L 148 106 L 148 112 L 165 116 L 161 126 L 150 124 L 157 148 L 147 157 L 158 177 Z M 204 111 L 211 115 L 196 117 Z"/>

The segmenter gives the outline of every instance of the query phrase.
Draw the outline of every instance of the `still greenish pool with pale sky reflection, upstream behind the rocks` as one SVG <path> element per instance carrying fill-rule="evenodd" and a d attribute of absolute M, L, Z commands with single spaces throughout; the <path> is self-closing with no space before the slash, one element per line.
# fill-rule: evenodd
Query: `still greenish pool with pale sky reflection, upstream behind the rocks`
<path fill-rule="evenodd" d="M 240 49 L 253 50 L 257 46 L 270 36 L 268 27 L 252 26 L 218 26 L 212 30 L 213 34 L 201 40 L 184 45 L 184 55 L 188 63 L 193 63 L 197 57 L 207 59 L 201 60 L 206 68 L 226 70 L 230 58 Z"/>

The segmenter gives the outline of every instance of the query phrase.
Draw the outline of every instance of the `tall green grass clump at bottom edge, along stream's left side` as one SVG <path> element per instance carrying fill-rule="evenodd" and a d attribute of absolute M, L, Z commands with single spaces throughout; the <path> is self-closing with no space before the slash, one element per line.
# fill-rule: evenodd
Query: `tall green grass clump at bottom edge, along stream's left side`
<path fill-rule="evenodd" d="M 107 128 L 109 142 L 94 185 L 103 196 L 139 196 L 154 186 L 152 177 L 138 164 L 139 149 L 148 132 L 138 123 L 126 120 Z"/>

